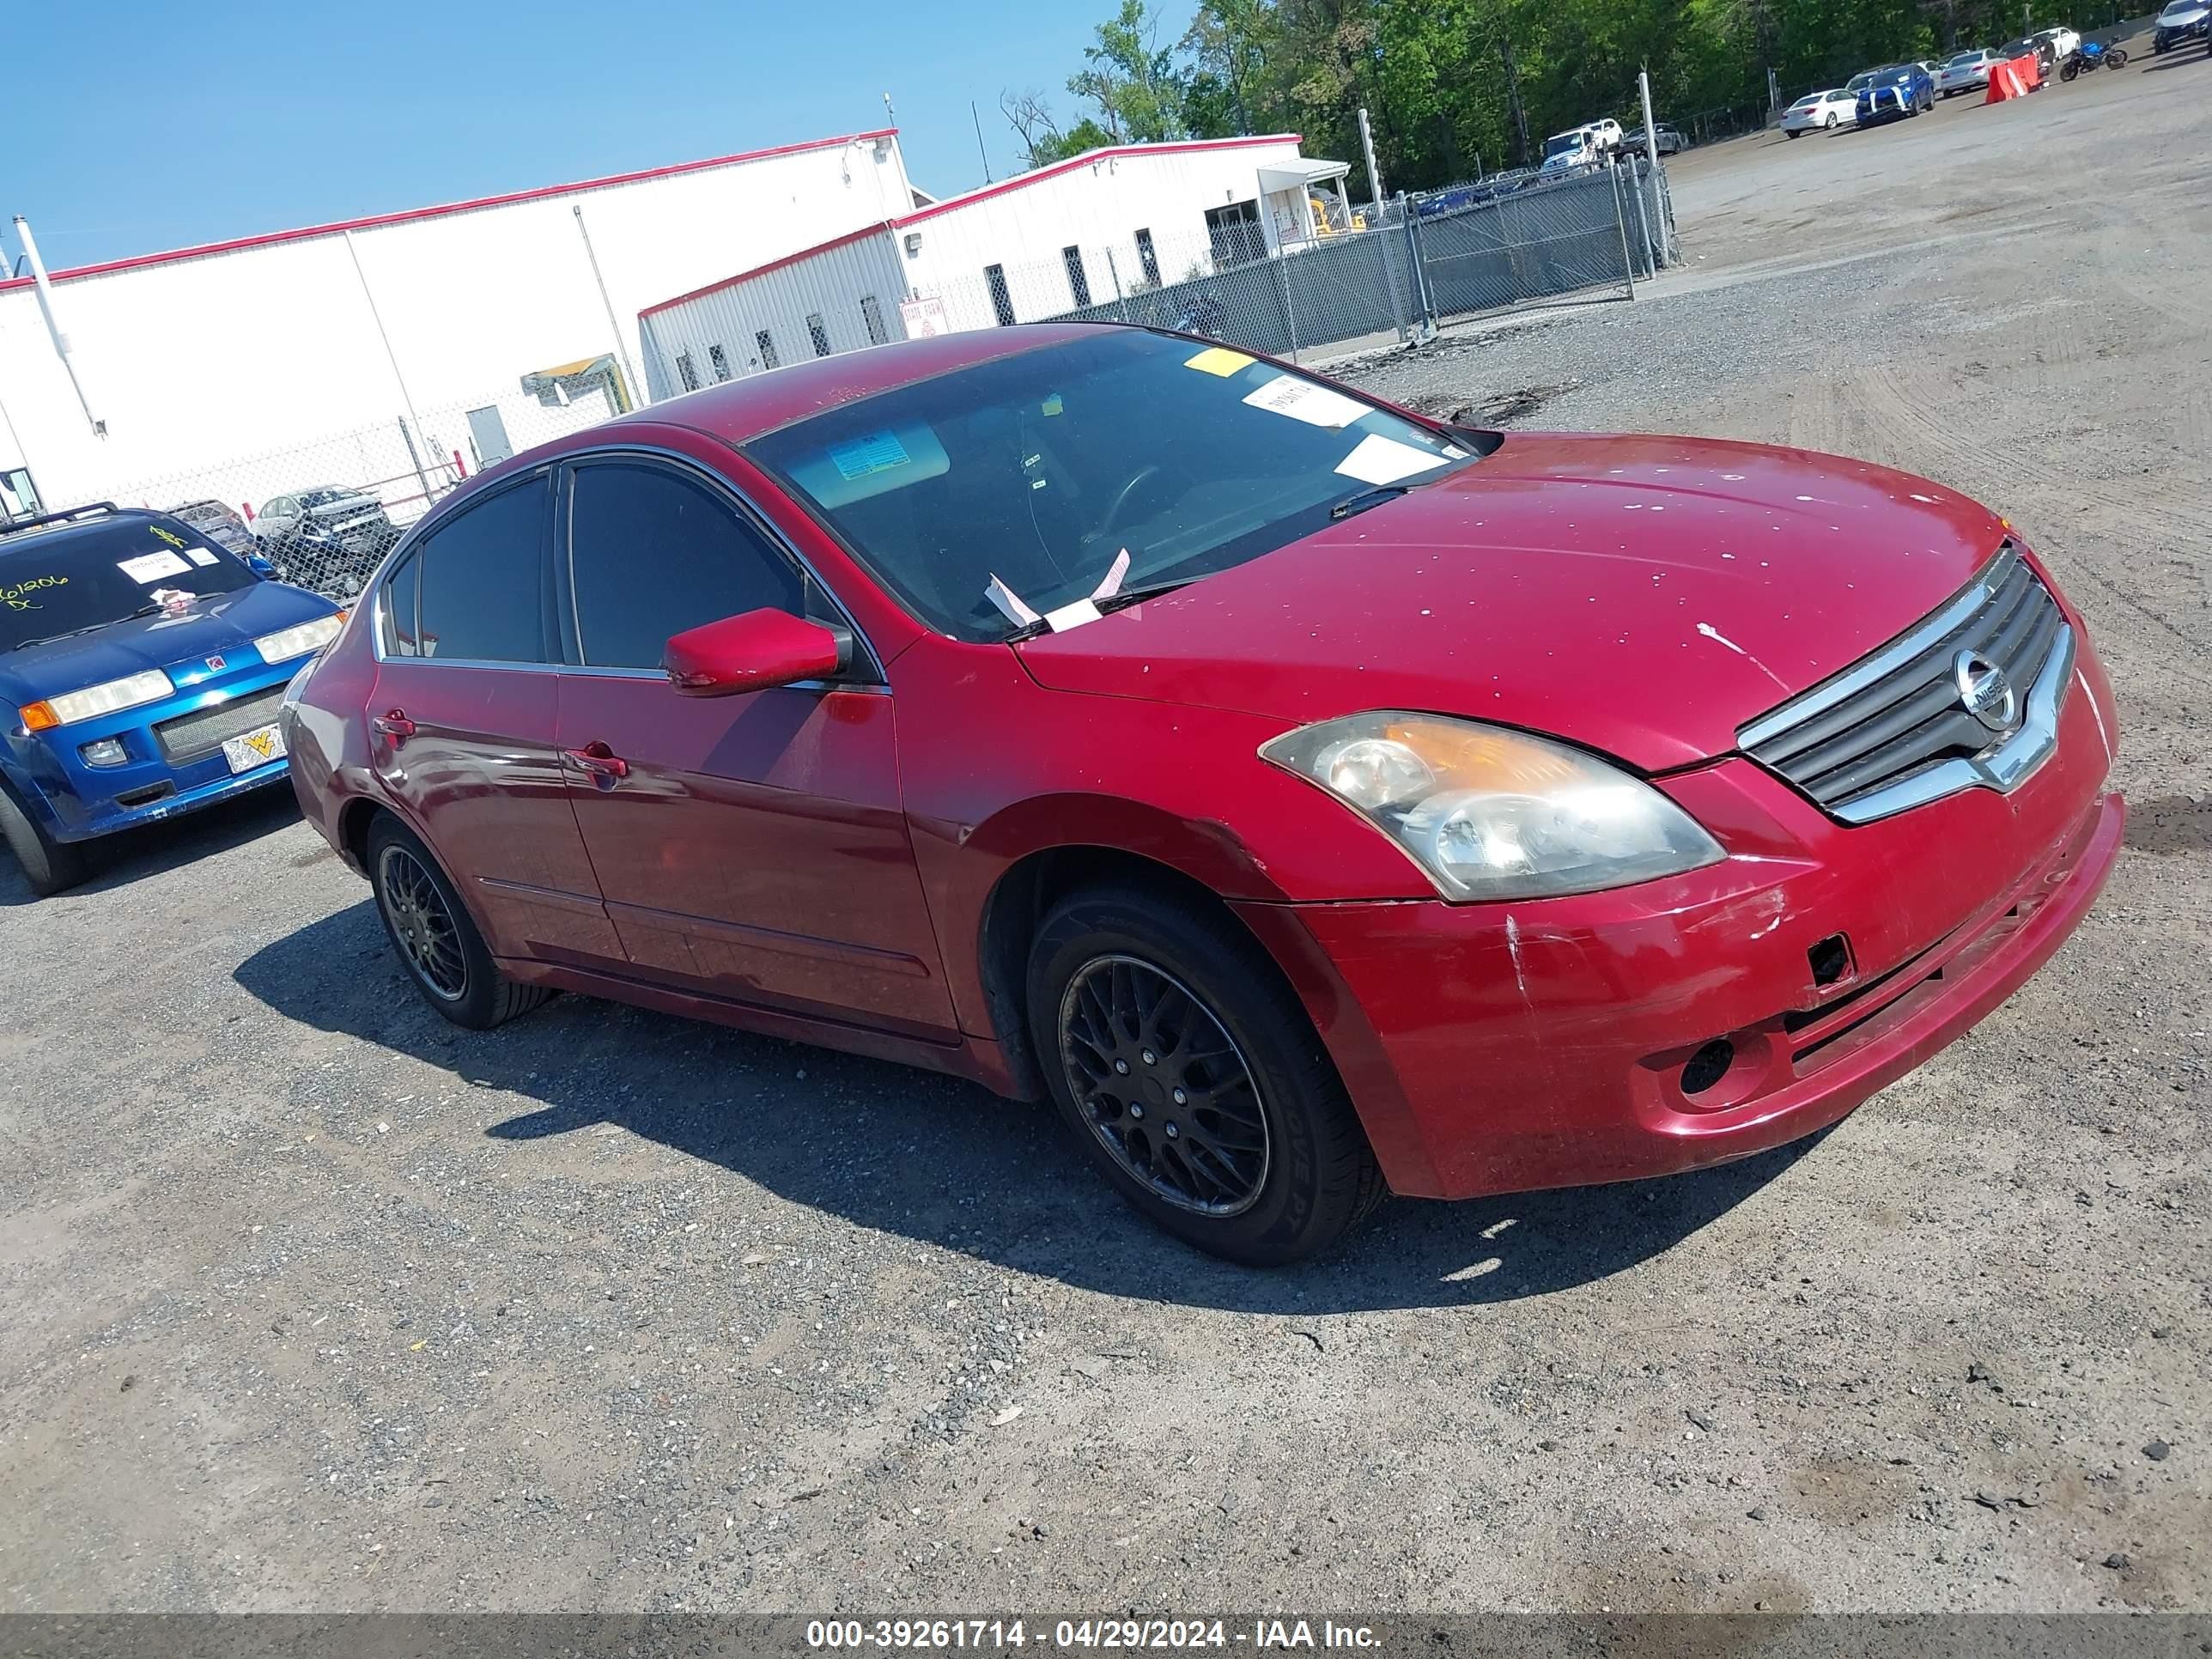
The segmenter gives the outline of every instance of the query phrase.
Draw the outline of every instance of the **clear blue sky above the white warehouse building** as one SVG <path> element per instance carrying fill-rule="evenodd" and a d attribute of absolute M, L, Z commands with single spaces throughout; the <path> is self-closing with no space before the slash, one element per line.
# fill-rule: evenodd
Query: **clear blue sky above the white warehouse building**
<path fill-rule="evenodd" d="M 945 195 L 1013 170 L 1006 86 L 1075 117 L 1113 0 L 24 4 L 0 82 L 0 232 L 51 268 L 883 126 Z M 1164 7 L 1164 35 L 1188 7 Z M 7 237 L 9 252 L 20 252 Z"/>

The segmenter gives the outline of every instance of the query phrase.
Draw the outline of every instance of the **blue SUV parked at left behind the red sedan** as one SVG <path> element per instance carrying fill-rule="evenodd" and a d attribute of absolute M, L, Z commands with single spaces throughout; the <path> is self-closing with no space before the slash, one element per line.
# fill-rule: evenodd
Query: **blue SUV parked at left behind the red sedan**
<path fill-rule="evenodd" d="M 263 568 L 113 502 L 0 533 L 0 841 L 35 894 L 95 836 L 285 779 L 285 684 L 345 613 Z"/>

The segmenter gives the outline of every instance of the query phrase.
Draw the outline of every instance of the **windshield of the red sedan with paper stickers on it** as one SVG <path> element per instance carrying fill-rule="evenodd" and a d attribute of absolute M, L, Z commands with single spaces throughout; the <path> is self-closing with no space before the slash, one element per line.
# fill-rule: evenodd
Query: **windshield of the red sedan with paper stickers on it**
<path fill-rule="evenodd" d="M 1177 586 L 1473 462 L 1460 442 L 1228 345 L 1110 330 L 745 445 L 929 626 Z M 1117 584 L 1119 553 L 1128 566 Z M 989 597 L 998 580 L 1020 606 Z"/>

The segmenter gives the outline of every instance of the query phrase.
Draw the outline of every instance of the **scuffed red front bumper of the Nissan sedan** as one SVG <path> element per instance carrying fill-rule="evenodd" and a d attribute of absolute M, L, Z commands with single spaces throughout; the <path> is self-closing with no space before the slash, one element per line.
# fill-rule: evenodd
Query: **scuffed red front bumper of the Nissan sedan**
<path fill-rule="evenodd" d="M 1396 1192 L 1672 1175 L 1834 1124 L 2020 989 L 2119 854 L 2115 732 L 2084 648 L 2059 743 L 2013 794 L 1845 827 L 1728 759 L 1661 783 L 1730 852 L 1688 876 L 1526 905 L 1239 914 Z M 1717 1042 L 1732 1062 L 1692 1091 L 1686 1068 Z"/>

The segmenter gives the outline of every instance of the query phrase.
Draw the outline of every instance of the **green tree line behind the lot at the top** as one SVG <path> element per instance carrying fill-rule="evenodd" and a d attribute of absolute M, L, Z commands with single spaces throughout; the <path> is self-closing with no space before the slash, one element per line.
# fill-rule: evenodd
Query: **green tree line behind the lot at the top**
<path fill-rule="evenodd" d="M 1146 0 L 1121 0 L 1068 75 L 1071 117 L 1040 88 L 1009 88 L 1000 111 L 1026 166 L 1102 144 L 1303 133 L 1307 155 L 1352 161 L 1363 181 L 1367 108 L 1385 186 L 1422 190 L 1531 166 L 1548 133 L 1604 115 L 1641 126 L 1637 69 L 1661 122 L 1732 128 L 1765 113 L 1770 71 L 1787 102 L 1876 64 L 2121 15 L 2135 9 L 2119 0 L 1203 0 L 1177 35 Z"/>

